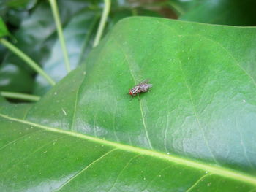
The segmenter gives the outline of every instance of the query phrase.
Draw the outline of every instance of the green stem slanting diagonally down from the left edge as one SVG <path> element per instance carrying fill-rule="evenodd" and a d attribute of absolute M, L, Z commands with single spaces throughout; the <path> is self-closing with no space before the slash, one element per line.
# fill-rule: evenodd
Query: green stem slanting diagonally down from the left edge
<path fill-rule="evenodd" d="M 10 51 L 12 51 L 12 53 L 15 53 L 15 55 L 18 55 L 23 61 L 26 62 L 26 64 L 29 64 L 29 66 L 31 66 L 32 69 L 34 69 L 38 74 L 41 74 L 42 77 L 45 77 L 46 80 L 48 80 L 48 82 L 50 83 L 50 85 L 55 85 L 55 82 L 52 78 L 50 78 L 48 76 L 48 74 L 46 74 L 40 67 L 39 65 L 34 62 L 31 58 L 29 58 L 28 55 L 26 55 L 25 53 L 23 53 L 21 50 L 18 49 L 18 47 L 15 47 L 15 45 L 12 45 L 10 42 L 8 42 L 6 39 L 4 38 L 0 38 L 0 42 L 2 45 L 4 45 L 5 47 L 7 47 Z"/>

